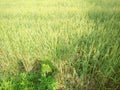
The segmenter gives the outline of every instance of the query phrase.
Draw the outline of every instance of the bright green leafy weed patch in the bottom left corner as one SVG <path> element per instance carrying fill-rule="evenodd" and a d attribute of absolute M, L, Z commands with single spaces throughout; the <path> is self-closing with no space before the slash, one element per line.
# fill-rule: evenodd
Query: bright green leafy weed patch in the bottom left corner
<path fill-rule="evenodd" d="M 22 72 L 0 82 L 0 90 L 56 90 L 57 81 L 49 64 L 41 63 L 37 71 Z"/>

